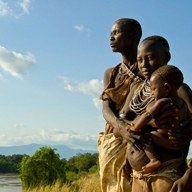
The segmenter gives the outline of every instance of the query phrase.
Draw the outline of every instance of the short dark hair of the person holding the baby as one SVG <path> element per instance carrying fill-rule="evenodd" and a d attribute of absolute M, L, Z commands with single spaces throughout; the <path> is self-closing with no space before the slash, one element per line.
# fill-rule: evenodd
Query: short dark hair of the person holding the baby
<path fill-rule="evenodd" d="M 160 43 L 165 48 L 166 63 L 169 62 L 169 60 L 171 59 L 171 54 L 169 52 L 170 47 L 168 41 L 164 37 L 159 35 L 152 35 L 143 39 L 141 43 L 145 41 L 154 41 L 154 43 Z"/>

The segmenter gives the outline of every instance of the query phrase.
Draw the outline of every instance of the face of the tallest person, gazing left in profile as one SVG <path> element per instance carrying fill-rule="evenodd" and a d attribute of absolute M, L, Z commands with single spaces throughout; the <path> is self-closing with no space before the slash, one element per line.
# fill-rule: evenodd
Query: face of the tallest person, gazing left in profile
<path fill-rule="evenodd" d="M 130 48 L 130 36 L 128 30 L 121 23 L 112 26 L 110 45 L 113 52 L 127 52 Z"/>

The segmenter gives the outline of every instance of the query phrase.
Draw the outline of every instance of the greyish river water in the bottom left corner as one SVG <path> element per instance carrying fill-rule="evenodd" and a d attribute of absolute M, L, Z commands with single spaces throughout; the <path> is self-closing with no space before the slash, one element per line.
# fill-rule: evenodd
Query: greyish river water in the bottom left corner
<path fill-rule="evenodd" d="M 22 192 L 19 176 L 0 174 L 0 192 Z"/>

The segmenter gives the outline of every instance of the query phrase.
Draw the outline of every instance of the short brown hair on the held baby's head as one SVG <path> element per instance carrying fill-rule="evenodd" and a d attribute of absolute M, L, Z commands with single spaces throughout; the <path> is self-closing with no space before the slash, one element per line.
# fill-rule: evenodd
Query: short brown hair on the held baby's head
<path fill-rule="evenodd" d="M 184 80 L 181 70 L 173 65 L 164 65 L 156 69 L 152 76 L 159 76 L 165 82 L 174 84 L 177 89 L 183 84 Z"/>

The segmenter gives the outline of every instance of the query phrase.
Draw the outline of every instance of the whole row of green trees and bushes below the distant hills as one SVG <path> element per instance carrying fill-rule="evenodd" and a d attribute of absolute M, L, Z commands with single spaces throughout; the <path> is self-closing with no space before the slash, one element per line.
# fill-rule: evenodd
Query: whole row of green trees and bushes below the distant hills
<path fill-rule="evenodd" d="M 23 188 L 72 183 L 82 175 L 98 172 L 98 154 L 77 154 L 60 159 L 56 149 L 42 147 L 32 156 L 0 155 L 0 173 L 18 173 Z"/>

